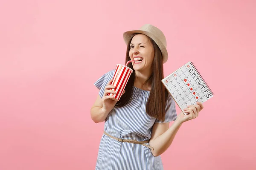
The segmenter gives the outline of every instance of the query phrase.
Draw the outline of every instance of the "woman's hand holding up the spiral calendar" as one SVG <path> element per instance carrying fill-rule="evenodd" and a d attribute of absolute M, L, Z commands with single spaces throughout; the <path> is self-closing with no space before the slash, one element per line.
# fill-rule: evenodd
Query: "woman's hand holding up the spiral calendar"
<path fill-rule="evenodd" d="M 196 103 L 197 105 L 189 105 L 187 108 L 183 109 L 183 111 L 188 114 L 185 115 L 183 112 L 181 112 L 176 120 L 180 121 L 180 123 L 183 123 L 188 120 L 197 118 L 199 112 L 204 108 L 204 106 L 201 102 Z"/>

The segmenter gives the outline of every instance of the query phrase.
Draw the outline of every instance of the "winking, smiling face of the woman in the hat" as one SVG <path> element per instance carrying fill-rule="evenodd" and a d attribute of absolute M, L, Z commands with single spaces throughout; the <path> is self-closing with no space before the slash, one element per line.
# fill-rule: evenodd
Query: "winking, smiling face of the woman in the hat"
<path fill-rule="evenodd" d="M 150 70 L 154 60 L 154 46 L 149 38 L 144 34 L 135 35 L 131 40 L 130 48 L 131 60 L 140 59 L 132 62 L 134 70 Z"/>

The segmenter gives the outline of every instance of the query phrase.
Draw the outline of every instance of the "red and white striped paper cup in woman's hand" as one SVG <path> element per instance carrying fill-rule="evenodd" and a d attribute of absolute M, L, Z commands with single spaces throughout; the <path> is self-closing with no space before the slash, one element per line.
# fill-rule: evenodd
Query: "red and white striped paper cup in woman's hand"
<path fill-rule="evenodd" d="M 117 64 L 113 76 L 113 81 L 111 83 L 111 85 L 116 87 L 114 89 L 111 89 L 112 91 L 115 91 L 116 94 L 108 94 L 108 96 L 114 96 L 114 98 L 112 99 L 119 101 L 132 72 L 133 70 L 131 68 L 125 65 Z"/>

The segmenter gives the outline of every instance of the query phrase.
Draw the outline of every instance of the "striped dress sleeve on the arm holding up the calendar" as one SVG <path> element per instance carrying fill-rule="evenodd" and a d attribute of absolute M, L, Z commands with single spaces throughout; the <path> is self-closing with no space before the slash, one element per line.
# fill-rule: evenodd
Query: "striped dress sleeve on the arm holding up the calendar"
<path fill-rule="evenodd" d="M 167 123 L 171 121 L 175 121 L 177 118 L 176 108 L 175 108 L 175 101 L 170 94 L 168 94 L 168 98 L 166 100 L 166 108 L 165 108 L 165 118 L 163 121 L 156 119 L 155 123 Z"/>

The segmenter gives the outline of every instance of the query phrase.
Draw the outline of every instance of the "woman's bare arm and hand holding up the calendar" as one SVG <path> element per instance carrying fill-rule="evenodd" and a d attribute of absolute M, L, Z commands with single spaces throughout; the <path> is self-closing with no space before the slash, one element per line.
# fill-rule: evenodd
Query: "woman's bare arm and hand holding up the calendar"
<path fill-rule="evenodd" d="M 184 112 L 189 114 L 185 115 L 181 112 L 171 127 L 169 127 L 169 122 L 155 123 L 153 125 L 149 145 L 154 148 L 154 150 L 151 150 L 154 156 L 159 156 L 168 149 L 183 122 L 195 119 L 198 116 L 199 111 L 201 111 L 204 106 L 201 102 L 197 102 L 197 104 L 198 105 L 190 105 L 188 108 L 184 109 Z"/>

